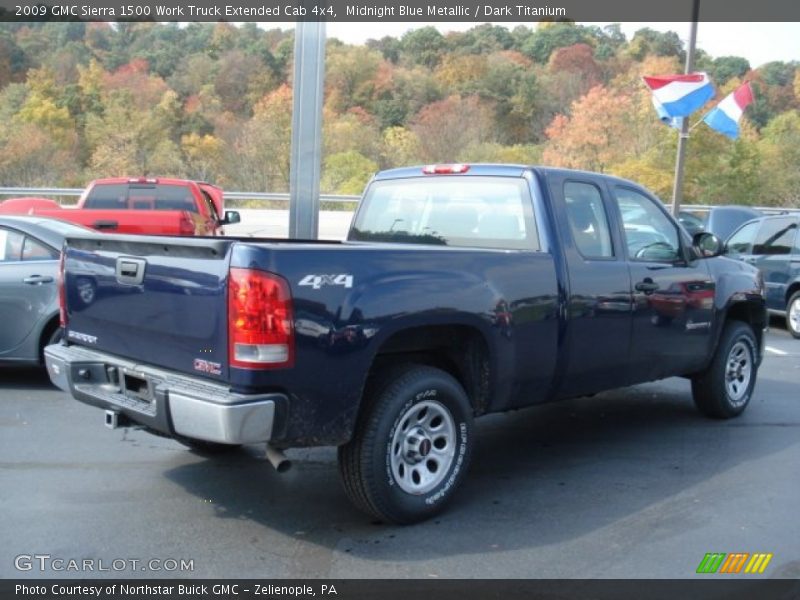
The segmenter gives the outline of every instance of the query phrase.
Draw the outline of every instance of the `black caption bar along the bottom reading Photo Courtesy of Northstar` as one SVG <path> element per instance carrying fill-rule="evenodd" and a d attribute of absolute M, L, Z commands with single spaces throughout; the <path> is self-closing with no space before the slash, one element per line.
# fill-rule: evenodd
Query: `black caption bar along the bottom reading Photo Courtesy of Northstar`
<path fill-rule="evenodd" d="M 3 600 L 760 600 L 797 598 L 800 582 L 781 579 L 686 580 L 2 580 Z"/>

